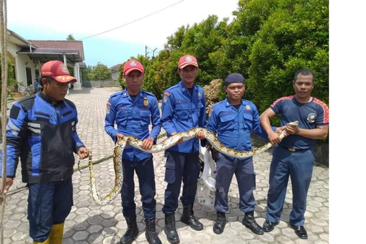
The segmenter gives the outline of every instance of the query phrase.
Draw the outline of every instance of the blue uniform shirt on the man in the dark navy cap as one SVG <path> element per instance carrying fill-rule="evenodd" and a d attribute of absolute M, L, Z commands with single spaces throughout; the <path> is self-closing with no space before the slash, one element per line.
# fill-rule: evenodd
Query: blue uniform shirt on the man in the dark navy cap
<path fill-rule="evenodd" d="M 267 133 L 259 122 L 258 110 L 253 102 L 242 100 L 239 110 L 236 110 L 226 98 L 214 104 L 206 128 L 217 134 L 220 142 L 225 146 L 239 151 L 253 149 L 250 132 L 268 139 Z M 276 127 L 272 128 L 274 131 Z"/>

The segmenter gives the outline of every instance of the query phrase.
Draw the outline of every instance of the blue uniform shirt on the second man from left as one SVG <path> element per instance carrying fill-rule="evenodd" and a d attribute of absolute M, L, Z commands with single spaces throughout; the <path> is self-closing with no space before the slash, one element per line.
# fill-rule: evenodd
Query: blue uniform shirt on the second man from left
<path fill-rule="evenodd" d="M 150 121 L 153 127 L 149 134 Z M 117 129 L 114 127 L 115 123 Z M 140 140 L 152 137 L 156 142 L 156 137 L 161 129 L 156 97 L 143 90 L 140 90 L 135 100 L 131 99 L 127 90 L 112 94 L 107 102 L 104 129 L 114 142 L 116 142 L 117 133 L 135 136 Z M 122 157 L 132 161 L 134 155 L 138 161 L 151 157 L 150 153 L 145 153 L 132 146 L 125 147 Z"/>

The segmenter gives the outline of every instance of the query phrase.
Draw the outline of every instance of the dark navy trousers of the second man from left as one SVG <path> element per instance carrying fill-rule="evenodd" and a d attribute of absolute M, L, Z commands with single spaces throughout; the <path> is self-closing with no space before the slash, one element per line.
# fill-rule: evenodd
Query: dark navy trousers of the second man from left
<path fill-rule="evenodd" d="M 134 156 L 133 161 L 123 159 L 123 183 L 121 189 L 123 216 L 125 218 L 136 218 L 135 204 L 135 181 L 134 172 L 138 177 L 142 210 L 145 219 L 154 219 L 156 212 L 155 197 L 155 176 L 153 157 L 148 157 L 137 161 Z"/>

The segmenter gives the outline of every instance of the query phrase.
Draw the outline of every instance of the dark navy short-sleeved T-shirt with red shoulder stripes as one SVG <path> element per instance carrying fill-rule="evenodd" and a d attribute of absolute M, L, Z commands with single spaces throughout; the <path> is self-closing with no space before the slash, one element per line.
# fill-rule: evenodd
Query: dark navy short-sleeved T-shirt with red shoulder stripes
<path fill-rule="evenodd" d="M 281 97 L 273 102 L 270 108 L 277 115 L 281 115 L 281 126 L 296 120 L 299 121 L 299 128 L 303 129 L 329 125 L 328 106 L 317 98 L 303 104 L 298 102 L 294 95 Z M 295 149 L 311 149 L 314 143 L 315 139 L 299 135 L 289 135 L 280 142 L 281 146 Z"/>

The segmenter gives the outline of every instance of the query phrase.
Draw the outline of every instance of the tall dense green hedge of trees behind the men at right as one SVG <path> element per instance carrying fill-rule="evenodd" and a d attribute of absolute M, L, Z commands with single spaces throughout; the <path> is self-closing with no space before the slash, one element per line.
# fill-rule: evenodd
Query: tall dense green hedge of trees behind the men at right
<path fill-rule="evenodd" d="M 241 73 L 247 82 L 244 97 L 260 113 L 277 98 L 294 93 L 291 81 L 300 68 L 314 71 L 313 95 L 329 103 L 328 0 L 239 0 L 233 15 L 231 23 L 211 15 L 193 26 L 181 26 L 155 59 L 137 56 L 145 68 L 142 88 L 161 98 L 180 80 L 179 57 L 191 54 L 200 68 L 198 85 Z M 222 86 L 219 89 L 221 100 L 225 93 Z"/>

